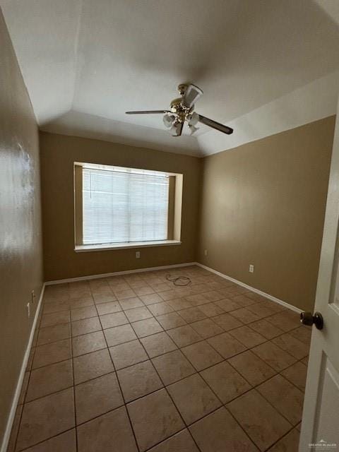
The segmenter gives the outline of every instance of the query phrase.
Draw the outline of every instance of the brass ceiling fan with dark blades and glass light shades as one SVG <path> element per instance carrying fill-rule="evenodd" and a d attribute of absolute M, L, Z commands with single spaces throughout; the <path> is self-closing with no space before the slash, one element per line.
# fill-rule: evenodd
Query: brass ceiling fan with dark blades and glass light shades
<path fill-rule="evenodd" d="M 196 127 L 198 122 L 222 133 L 227 133 L 227 135 L 233 133 L 233 129 L 230 127 L 194 112 L 196 101 L 203 95 L 203 90 L 198 88 L 198 86 L 192 85 L 191 83 L 182 83 L 178 86 L 178 91 L 181 97 L 172 100 L 169 110 L 145 110 L 140 112 L 126 112 L 126 114 L 165 114 L 162 120 L 167 129 L 170 129 L 169 131 L 172 136 L 180 136 L 182 134 L 185 121 L 189 126 L 191 135 L 198 130 L 198 127 Z"/>

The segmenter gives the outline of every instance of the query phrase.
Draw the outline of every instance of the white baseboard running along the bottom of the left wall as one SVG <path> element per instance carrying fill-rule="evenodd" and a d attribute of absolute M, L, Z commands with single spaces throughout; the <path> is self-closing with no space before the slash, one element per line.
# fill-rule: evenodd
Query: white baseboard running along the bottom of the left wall
<path fill-rule="evenodd" d="M 37 326 L 37 318 L 39 316 L 40 307 L 42 304 L 42 298 L 44 297 L 44 284 L 42 285 L 42 289 L 40 292 L 39 302 L 37 303 L 37 310 L 35 311 L 34 320 L 32 323 L 32 328 L 30 329 L 30 338 L 28 339 L 28 345 L 26 347 L 25 355 L 23 356 L 23 364 L 21 365 L 20 374 L 18 378 L 18 382 L 16 383 L 16 392 L 14 393 L 11 410 L 8 415 L 8 420 L 6 424 L 6 429 L 4 433 L 4 438 L 2 439 L 2 444 L 0 448 L 0 452 L 6 452 L 8 441 L 11 436 L 11 431 L 13 427 L 14 417 L 16 416 L 16 408 L 18 406 L 18 400 L 20 397 L 21 386 L 23 386 L 23 379 L 25 376 L 25 371 L 28 363 L 28 358 L 30 357 L 30 349 L 32 348 L 32 342 L 35 333 L 35 327 Z"/>

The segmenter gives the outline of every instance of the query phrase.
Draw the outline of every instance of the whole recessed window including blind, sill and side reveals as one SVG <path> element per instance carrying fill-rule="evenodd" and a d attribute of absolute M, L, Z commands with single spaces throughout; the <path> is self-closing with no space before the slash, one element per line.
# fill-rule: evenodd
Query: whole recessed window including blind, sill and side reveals
<path fill-rule="evenodd" d="M 182 174 L 76 163 L 74 176 L 77 251 L 179 242 Z"/>

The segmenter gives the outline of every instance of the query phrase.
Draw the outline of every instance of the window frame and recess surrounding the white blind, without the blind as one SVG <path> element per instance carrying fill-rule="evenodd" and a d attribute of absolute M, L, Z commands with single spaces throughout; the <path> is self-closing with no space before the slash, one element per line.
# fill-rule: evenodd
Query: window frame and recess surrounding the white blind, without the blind
<path fill-rule="evenodd" d="M 133 249 L 149 246 L 179 245 L 182 229 L 182 188 L 183 174 L 163 172 L 169 177 L 169 197 L 167 215 L 167 239 L 144 242 L 119 242 L 105 244 L 83 244 L 83 168 L 105 169 L 104 167 L 116 167 L 118 165 L 100 165 L 95 163 L 73 163 L 73 188 L 74 188 L 74 251 L 104 251 L 113 249 Z M 121 167 L 127 168 L 127 167 Z M 129 168 L 142 170 L 145 168 Z M 150 169 L 148 169 L 150 170 Z M 150 170 L 153 171 L 153 170 Z M 159 171 L 160 172 L 160 171 Z"/>

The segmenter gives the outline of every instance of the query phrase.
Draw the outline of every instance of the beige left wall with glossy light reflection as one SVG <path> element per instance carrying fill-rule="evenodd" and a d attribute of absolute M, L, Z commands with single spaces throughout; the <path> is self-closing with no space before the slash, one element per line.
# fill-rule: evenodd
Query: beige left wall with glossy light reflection
<path fill-rule="evenodd" d="M 42 286 L 39 136 L 0 10 L 0 442 Z"/>

